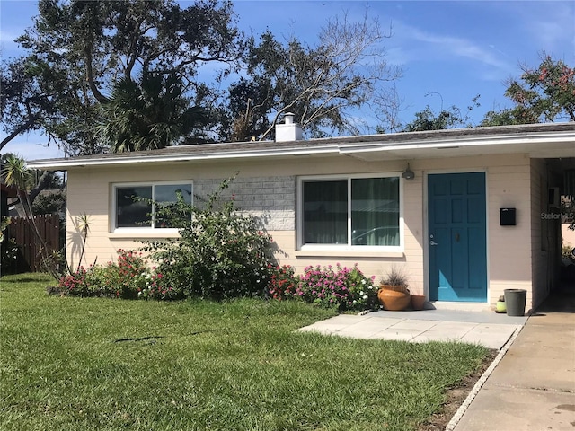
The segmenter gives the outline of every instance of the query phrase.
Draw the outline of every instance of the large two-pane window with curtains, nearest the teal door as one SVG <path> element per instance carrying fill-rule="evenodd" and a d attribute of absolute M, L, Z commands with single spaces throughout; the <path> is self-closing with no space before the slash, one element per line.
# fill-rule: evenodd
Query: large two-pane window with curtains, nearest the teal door
<path fill-rule="evenodd" d="M 302 246 L 401 245 L 399 177 L 304 178 L 300 197 Z"/>

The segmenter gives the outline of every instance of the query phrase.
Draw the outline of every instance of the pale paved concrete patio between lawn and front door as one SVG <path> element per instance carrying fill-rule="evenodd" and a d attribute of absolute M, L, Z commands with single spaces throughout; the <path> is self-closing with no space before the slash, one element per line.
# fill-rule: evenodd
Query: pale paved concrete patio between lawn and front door
<path fill-rule="evenodd" d="M 495 312 L 424 310 L 341 314 L 300 330 L 358 339 L 400 339 L 411 342 L 462 341 L 500 349 L 526 322 Z"/>

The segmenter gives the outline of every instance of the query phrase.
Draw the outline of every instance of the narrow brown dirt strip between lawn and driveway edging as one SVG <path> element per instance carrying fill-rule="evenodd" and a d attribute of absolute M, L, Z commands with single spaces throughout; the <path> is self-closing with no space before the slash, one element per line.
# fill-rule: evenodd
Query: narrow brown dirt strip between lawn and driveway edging
<path fill-rule="evenodd" d="M 456 414 L 457 409 L 464 403 L 469 392 L 473 390 L 475 383 L 482 377 L 485 370 L 489 368 L 489 365 L 491 365 L 497 354 L 497 350 L 491 350 L 475 373 L 464 377 L 462 382 L 447 389 L 446 402 L 427 422 L 420 424 L 420 426 L 416 428 L 417 431 L 445 430 L 451 418 Z"/>

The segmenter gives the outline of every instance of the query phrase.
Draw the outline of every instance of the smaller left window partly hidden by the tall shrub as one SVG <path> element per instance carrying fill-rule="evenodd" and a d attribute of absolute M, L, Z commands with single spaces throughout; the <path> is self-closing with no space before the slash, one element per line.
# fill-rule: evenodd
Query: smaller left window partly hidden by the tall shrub
<path fill-rule="evenodd" d="M 155 208 L 176 202 L 178 193 L 192 202 L 190 183 L 118 184 L 113 187 L 113 228 L 175 228 L 155 216 Z"/>

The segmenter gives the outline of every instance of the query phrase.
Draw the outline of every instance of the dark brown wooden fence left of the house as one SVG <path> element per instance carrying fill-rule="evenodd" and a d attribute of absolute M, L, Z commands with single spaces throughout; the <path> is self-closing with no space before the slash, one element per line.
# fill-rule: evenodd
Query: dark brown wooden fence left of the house
<path fill-rule="evenodd" d="M 18 246 L 18 261 L 14 262 L 17 272 L 43 271 L 40 240 L 34 233 L 34 227 L 29 217 L 12 217 L 8 225 L 7 238 L 13 239 Z M 34 216 L 40 236 L 46 243 L 48 254 L 60 250 L 60 219 L 57 214 Z"/>

